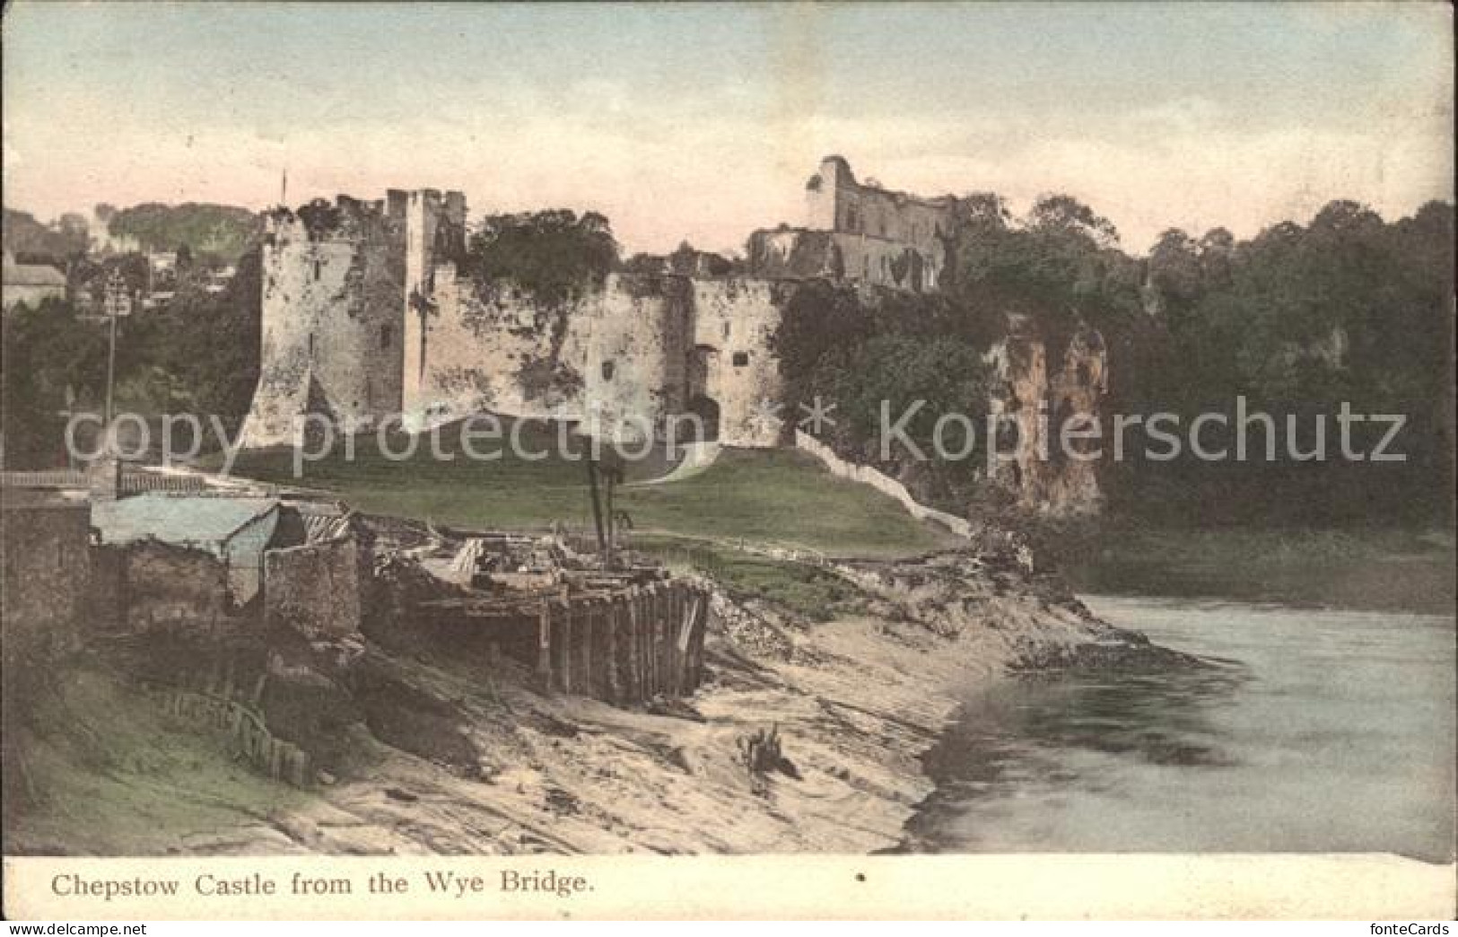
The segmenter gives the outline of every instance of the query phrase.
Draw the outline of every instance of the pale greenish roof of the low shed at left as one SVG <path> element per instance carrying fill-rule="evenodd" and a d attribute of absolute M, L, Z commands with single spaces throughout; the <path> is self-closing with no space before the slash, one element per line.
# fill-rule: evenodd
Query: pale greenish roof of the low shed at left
<path fill-rule="evenodd" d="M 239 528 L 278 506 L 274 498 L 178 498 L 159 493 L 96 501 L 92 527 L 106 544 L 162 540 L 217 552 Z"/>

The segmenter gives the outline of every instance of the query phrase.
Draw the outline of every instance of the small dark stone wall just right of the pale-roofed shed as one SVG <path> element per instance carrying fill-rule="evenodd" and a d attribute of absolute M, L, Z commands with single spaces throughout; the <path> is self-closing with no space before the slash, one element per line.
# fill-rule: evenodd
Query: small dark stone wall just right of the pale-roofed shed
<path fill-rule="evenodd" d="M 264 623 L 309 638 L 357 633 L 369 582 L 354 537 L 264 553 Z"/>

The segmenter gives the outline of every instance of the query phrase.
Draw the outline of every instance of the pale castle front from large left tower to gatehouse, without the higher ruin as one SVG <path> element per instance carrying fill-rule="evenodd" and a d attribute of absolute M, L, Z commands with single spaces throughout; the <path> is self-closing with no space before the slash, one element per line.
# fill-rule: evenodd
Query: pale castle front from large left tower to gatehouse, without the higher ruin
<path fill-rule="evenodd" d="M 292 442 L 309 413 L 421 426 L 483 410 L 620 438 L 693 413 L 730 445 L 780 442 L 760 407 L 780 381 L 773 282 L 614 273 L 547 302 L 462 270 L 465 212 L 424 190 L 267 216 L 245 445 Z"/>

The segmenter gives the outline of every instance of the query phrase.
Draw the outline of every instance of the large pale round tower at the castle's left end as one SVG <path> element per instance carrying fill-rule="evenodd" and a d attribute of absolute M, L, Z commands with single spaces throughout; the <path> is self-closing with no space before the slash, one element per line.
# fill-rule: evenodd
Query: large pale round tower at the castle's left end
<path fill-rule="evenodd" d="M 334 223 L 312 229 L 287 209 L 265 217 L 248 447 L 292 442 L 303 413 L 366 420 L 399 410 L 404 222 L 381 203 L 340 197 L 334 209 Z"/>

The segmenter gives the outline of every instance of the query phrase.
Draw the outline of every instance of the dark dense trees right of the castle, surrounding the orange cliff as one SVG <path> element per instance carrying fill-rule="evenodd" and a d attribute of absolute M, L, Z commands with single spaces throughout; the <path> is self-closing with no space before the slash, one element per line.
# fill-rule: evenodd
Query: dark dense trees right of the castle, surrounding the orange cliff
<path fill-rule="evenodd" d="M 1261 426 L 1250 450 L 1260 458 L 1244 463 L 1201 461 L 1185 450 L 1174 463 L 1105 464 L 1115 512 L 1327 523 L 1423 520 L 1446 509 L 1452 206 L 1432 203 L 1387 223 L 1360 204 L 1333 201 L 1306 226 L 1284 222 L 1250 241 L 1222 228 L 1198 238 L 1169 231 L 1145 258 L 1120 250 L 1114 226 L 1067 196 L 1045 196 L 1015 217 L 999 196 L 980 193 L 958 212 L 939 295 L 886 298 L 809 283 L 786 304 L 777 350 L 792 398 L 821 393 L 841 404 L 841 451 L 869 457 L 873 448 L 866 433 L 876 426 L 857 388 L 961 403 L 986 381 L 978 356 L 1009 323 L 1040 334 L 1050 360 L 1086 323 L 1110 353 L 1108 413 L 1172 413 L 1182 426 L 1220 413 L 1233 426 L 1242 397 L 1247 412 L 1273 417 L 1279 436 L 1273 461 L 1264 460 Z M 932 358 L 908 358 L 904 339 Z M 873 360 L 870 349 L 891 363 Z M 939 360 L 952 382 L 930 385 L 927 360 Z M 1341 461 L 1334 420 L 1343 403 L 1354 413 L 1403 414 L 1407 428 L 1389 451 L 1407 461 Z M 1318 414 L 1328 420 L 1333 455 L 1290 458 L 1287 416 L 1298 419 L 1305 451 Z M 1222 432 L 1203 435 L 1206 448 L 1231 444 Z M 1385 432 L 1385 423 L 1356 426 L 1354 447 L 1371 451 Z M 959 471 L 923 469 L 921 490 L 958 490 Z"/>

